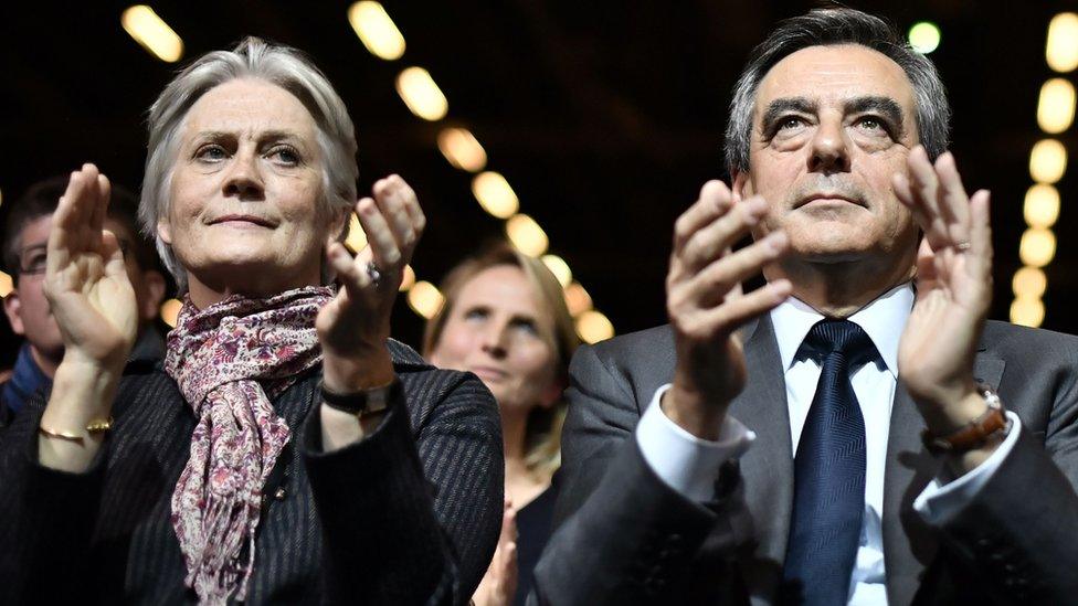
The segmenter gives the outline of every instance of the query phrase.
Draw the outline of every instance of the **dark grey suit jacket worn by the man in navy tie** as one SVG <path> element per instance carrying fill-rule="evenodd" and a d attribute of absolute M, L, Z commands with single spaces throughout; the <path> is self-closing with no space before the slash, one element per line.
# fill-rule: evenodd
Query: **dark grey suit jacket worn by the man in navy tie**
<path fill-rule="evenodd" d="M 669 489 L 633 429 L 673 379 L 668 327 L 578 351 L 562 434 L 559 530 L 536 570 L 550 604 L 773 604 L 793 508 L 785 383 L 769 316 L 742 332 L 748 384 L 730 414 L 757 434 L 706 507 Z M 1015 448 L 941 528 L 913 499 L 939 464 L 899 385 L 885 469 L 887 596 L 910 603 L 1078 600 L 1078 339 L 987 322 L 975 375 L 1022 418 Z M 983 602 L 976 602 L 977 598 Z"/>

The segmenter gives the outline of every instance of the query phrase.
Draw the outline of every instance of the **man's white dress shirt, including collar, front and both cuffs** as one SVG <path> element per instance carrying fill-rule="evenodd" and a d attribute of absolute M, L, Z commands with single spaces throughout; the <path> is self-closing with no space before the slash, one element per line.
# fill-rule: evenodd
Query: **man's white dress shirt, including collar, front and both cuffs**
<path fill-rule="evenodd" d="M 859 369 L 850 369 L 850 383 L 865 417 L 865 514 L 862 518 L 860 544 L 850 575 L 848 604 L 887 604 L 884 564 L 884 536 L 880 514 L 884 511 L 884 470 L 887 459 L 887 435 L 898 379 L 898 341 L 913 307 L 910 284 L 898 286 L 849 317 L 868 333 L 880 359 Z M 801 430 L 820 381 L 821 366 L 810 357 L 797 357 L 808 330 L 824 317 L 804 302 L 791 297 L 771 312 L 779 357 L 786 383 L 790 412 L 791 456 L 797 453 Z M 752 372 L 750 369 L 749 372 Z M 732 416 L 727 416 L 717 442 L 704 440 L 672 422 L 658 406 L 669 385 L 660 387 L 636 427 L 636 439 L 644 460 L 670 488 L 704 502 L 714 497 L 714 481 L 719 466 L 740 457 L 755 435 Z M 1000 467 L 1017 442 L 1021 422 L 1007 413 L 1012 430 L 993 455 L 973 471 L 947 485 L 933 480 L 915 500 L 913 507 L 930 523 L 941 523 L 962 503 L 976 495 Z"/>

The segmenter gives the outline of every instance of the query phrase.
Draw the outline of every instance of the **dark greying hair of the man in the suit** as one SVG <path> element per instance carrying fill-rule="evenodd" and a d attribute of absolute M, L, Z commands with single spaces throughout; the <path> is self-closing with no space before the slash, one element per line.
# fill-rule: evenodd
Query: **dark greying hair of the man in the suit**
<path fill-rule="evenodd" d="M 752 50 L 730 100 L 725 151 L 731 173 L 749 170 L 757 89 L 768 72 L 802 49 L 836 44 L 859 44 L 897 63 L 913 86 L 920 143 L 933 160 L 947 150 L 951 108 L 932 62 L 910 47 L 895 28 L 878 17 L 845 7 L 815 9 L 779 23 L 771 35 Z"/>

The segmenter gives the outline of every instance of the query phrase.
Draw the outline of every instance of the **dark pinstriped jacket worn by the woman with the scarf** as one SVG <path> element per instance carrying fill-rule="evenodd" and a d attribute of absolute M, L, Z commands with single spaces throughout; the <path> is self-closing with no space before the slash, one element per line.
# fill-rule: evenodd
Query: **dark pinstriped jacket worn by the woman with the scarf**
<path fill-rule="evenodd" d="M 317 370 L 274 401 L 293 438 L 264 490 L 249 603 L 465 604 L 486 571 L 504 491 L 494 398 L 389 347 L 403 401 L 355 445 L 323 451 Z M 43 406 L 0 438 L 0 602 L 194 600 L 169 520 L 197 421 L 176 383 L 129 363 L 85 474 L 38 465 Z"/>

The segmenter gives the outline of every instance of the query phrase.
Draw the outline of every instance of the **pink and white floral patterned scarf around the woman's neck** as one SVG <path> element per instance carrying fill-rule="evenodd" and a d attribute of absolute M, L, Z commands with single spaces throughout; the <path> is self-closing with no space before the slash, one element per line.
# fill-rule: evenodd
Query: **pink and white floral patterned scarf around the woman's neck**
<path fill-rule="evenodd" d="M 203 603 L 246 595 L 262 489 L 290 434 L 271 398 L 321 359 L 315 317 L 332 296 L 311 286 L 203 310 L 188 297 L 168 336 L 165 370 L 198 417 L 171 521 Z"/>

